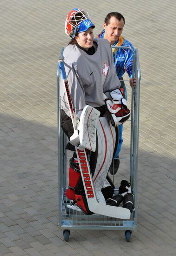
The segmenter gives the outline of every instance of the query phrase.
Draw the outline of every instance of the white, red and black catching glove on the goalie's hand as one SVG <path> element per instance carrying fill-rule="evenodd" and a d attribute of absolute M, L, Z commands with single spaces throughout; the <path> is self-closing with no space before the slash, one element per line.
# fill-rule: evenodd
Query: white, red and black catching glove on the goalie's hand
<path fill-rule="evenodd" d="M 104 94 L 104 101 L 109 113 L 112 116 L 112 124 L 118 126 L 123 124 L 130 117 L 130 110 L 127 108 L 126 99 L 123 97 L 120 89 L 110 92 L 113 100 L 107 98 Z"/>

